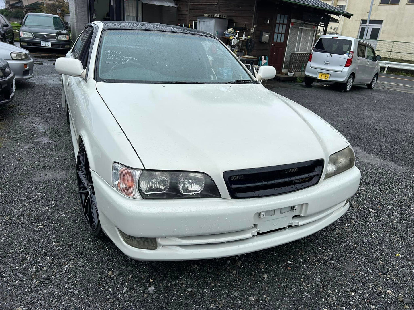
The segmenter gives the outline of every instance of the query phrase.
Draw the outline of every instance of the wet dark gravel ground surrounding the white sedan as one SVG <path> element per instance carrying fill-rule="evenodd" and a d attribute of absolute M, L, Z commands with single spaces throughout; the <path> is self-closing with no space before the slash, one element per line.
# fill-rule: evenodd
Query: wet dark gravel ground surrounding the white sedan
<path fill-rule="evenodd" d="M 84 228 L 60 77 L 34 70 L 0 110 L 1 309 L 413 308 L 412 93 L 268 83 L 354 146 L 362 179 L 349 212 L 256 253 L 139 262 Z"/>

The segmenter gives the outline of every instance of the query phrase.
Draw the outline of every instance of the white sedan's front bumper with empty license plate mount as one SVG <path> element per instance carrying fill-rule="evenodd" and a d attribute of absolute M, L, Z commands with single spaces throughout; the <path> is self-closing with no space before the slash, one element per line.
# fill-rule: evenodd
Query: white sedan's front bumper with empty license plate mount
<path fill-rule="evenodd" d="M 127 198 L 96 172 L 92 177 L 101 227 L 123 253 L 137 260 L 195 260 L 262 250 L 323 229 L 347 211 L 361 174 L 353 167 L 315 186 L 272 197 L 176 200 Z M 273 210 L 274 215 L 259 216 Z M 119 230 L 156 238 L 157 248 L 129 246 Z"/>

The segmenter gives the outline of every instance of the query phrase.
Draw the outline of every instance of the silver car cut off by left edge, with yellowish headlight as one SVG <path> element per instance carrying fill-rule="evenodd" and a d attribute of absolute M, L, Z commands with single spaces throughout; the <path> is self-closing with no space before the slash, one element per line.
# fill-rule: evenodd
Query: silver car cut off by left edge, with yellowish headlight
<path fill-rule="evenodd" d="M 16 76 L 16 81 L 33 77 L 33 59 L 29 51 L 16 45 L 0 42 L 0 58 L 6 60 Z"/>

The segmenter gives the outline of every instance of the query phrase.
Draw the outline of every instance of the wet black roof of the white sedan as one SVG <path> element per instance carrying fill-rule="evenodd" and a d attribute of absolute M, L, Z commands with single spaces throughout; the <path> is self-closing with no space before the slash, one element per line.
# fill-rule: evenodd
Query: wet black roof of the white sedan
<path fill-rule="evenodd" d="M 200 30 L 195 30 L 186 27 L 180 26 L 172 26 L 172 25 L 165 25 L 165 24 L 154 24 L 154 23 L 146 23 L 141 21 L 98 21 L 94 22 L 93 24 L 102 23 L 103 28 L 102 30 L 106 29 L 134 29 L 134 30 L 149 30 L 149 31 L 164 31 L 164 32 L 178 32 L 178 33 L 190 33 L 190 34 L 198 34 L 202 36 L 209 36 L 216 38 L 211 33 L 207 33 Z"/>

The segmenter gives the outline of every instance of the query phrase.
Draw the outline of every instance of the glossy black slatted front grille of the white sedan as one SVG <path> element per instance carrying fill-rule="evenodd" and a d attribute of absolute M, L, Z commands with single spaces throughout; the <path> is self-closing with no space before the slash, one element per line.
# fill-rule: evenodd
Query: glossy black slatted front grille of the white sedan
<path fill-rule="evenodd" d="M 295 164 L 226 171 L 224 181 L 232 198 L 274 196 L 318 183 L 323 159 Z"/>

